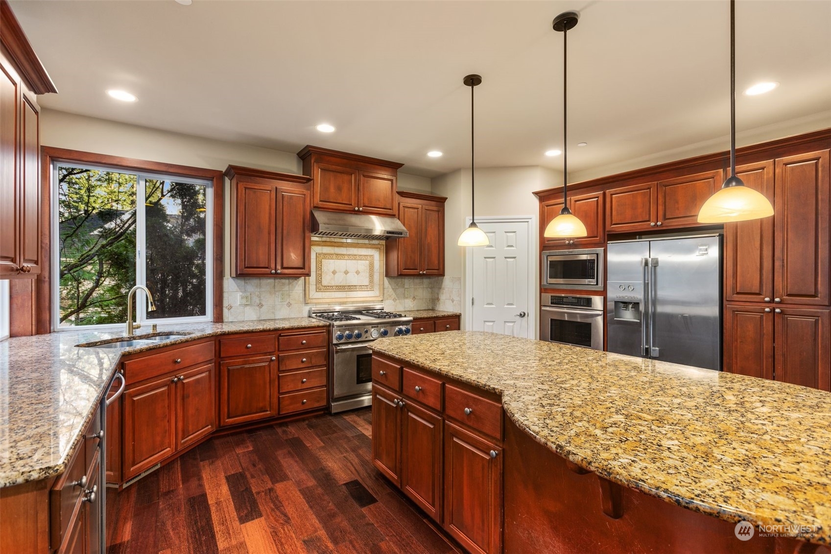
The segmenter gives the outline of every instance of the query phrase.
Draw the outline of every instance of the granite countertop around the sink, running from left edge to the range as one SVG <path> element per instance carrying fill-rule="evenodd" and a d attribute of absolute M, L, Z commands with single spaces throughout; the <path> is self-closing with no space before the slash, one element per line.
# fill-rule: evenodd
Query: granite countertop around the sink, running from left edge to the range
<path fill-rule="evenodd" d="M 75 346 L 121 337 L 121 329 L 62 331 L 4 340 L 0 342 L 0 487 L 63 472 L 116 372 L 121 354 L 219 334 L 327 326 L 311 318 L 160 325 L 156 334 L 178 331 L 188 335 L 132 349 Z M 150 325 L 140 331 L 150 334 Z"/>

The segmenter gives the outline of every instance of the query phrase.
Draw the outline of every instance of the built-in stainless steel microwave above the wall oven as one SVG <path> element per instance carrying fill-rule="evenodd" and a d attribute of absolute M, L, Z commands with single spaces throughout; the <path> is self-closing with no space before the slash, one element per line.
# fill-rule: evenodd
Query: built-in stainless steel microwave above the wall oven
<path fill-rule="evenodd" d="M 543 287 L 603 289 L 603 249 L 548 250 L 543 252 Z"/>

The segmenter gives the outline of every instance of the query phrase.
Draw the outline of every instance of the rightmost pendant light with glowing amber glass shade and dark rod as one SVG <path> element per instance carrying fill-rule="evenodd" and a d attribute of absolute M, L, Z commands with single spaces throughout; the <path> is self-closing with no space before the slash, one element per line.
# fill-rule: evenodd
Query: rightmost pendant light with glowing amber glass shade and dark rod
<path fill-rule="evenodd" d="M 735 176 L 735 0 L 730 0 L 730 176 L 698 212 L 699 223 L 758 220 L 774 215 L 765 195 Z"/>

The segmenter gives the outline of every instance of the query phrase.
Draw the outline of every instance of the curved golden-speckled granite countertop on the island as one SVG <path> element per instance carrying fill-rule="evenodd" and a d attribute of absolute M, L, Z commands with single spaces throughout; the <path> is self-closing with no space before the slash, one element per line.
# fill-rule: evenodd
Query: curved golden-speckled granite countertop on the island
<path fill-rule="evenodd" d="M 502 334 L 370 348 L 501 393 L 538 443 L 653 497 L 730 522 L 817 526 L 831 541 L 831 394 Z"/>

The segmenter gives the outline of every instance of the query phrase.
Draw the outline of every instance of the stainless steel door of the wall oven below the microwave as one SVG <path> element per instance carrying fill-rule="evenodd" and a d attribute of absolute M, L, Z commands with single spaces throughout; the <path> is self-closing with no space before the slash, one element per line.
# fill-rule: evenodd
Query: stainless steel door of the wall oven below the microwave
<path fill-rule="evenodd" d="M 540 309 L 539 338 L 551 343 L 603 349 L 603 312 L 543 306 Z"/>

